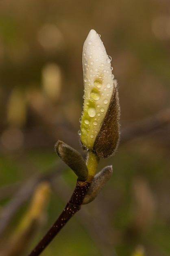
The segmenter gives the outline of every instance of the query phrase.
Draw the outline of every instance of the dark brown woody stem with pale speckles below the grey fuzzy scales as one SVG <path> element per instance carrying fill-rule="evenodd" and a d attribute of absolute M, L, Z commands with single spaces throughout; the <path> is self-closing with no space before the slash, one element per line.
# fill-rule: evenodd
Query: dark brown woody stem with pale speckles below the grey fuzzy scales
<path fill-rule="evenodd" d="M 77 180 L 74 192 L 66 204 L 65 209 L 62 211 L 59 218 L 54 222 L 52 227 L 46 233 L 46 235 L 41 239 L 37 246 L 32 250 L 28 256 L 39 256 L 41 252 L 48 246 L 52 239 L 59 233 L 59 231 L 64 227 L 64 225 L 74 216 L 74 214 L 81 209 L 81 204 L 83 199 L 89 189 L 90 182 L 83 182 Z"/>

